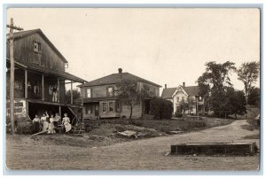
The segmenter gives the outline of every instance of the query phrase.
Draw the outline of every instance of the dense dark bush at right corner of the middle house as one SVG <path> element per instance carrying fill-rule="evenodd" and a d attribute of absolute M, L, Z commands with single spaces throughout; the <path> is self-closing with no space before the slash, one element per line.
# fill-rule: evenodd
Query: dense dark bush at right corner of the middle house
<path fill-rule="evenodd" d="M 160 97 L 154 97 L 151 100 L 151 114 L 154 115 L 154 119 L 171 119 L 172 113 L 172 102 Z"/>

